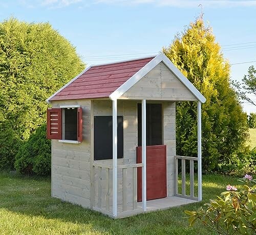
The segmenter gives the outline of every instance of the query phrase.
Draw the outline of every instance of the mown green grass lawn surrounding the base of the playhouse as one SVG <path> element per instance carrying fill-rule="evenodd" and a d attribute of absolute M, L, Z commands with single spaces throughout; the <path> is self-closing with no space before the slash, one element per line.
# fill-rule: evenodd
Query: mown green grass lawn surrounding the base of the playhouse
<path fill-rule="evenodd" d="M 51 198 L 50 179 L 0 173 L 0 234 L 215 234 L 197 223 L 188 227 L 184 210 L 215 198 L 236 178 L 203 176 L 203 202 L 113 220 Z"/>

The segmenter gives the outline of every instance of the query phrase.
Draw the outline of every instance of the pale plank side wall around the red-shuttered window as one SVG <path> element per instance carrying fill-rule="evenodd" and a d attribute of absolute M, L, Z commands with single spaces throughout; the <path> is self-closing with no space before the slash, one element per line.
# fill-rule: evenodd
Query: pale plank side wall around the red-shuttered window
<path fill-rule="evenodd" d="M 90 207 L 90 100 L 53 101 L 53 108 L 60 105 L 81 105 L 83 141 L 80 144 L 52 141 L 52 196 Z"/>

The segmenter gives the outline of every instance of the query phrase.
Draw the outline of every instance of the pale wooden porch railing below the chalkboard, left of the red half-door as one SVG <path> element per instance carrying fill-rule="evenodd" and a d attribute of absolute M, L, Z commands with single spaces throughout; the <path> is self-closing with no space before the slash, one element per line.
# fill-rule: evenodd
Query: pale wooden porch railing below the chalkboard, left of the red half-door
<path fill-rule="evenodd" d="M 119 201 L 117 210 L 117 216 L 119 218 L 125 217 L 126 215 L 132 215 L 133 213 L 143 210 L 142 208 L 138 208 L 137 201 L 137 168 L 142 166 L 142 163 L 117 165 L 119 172 L 121 170 L 121 176 L 118 174 L 118 181 L 122 182 L 122 200 Z M 131 169 L 130 172 L 132 172 L 132 174 L 129 174 L 129 176 L 127 176 L 128 169 Z M 92 208 L 109 216 L 113 216 L 112 174 L 112 165 L 95 162 L 93 163 L 93 180 L 91 184 L 91 190 L 93 192 L 93 197 L 91 199 Z M 129 186 L 127 178 L 129 178 L 131 182 L 132 203 L 127 199 L 127 195 L 131 195 L 131 193 L 127 191 Z M 120 194 L 118 194 L 118 196 L 120 196 Z"/>

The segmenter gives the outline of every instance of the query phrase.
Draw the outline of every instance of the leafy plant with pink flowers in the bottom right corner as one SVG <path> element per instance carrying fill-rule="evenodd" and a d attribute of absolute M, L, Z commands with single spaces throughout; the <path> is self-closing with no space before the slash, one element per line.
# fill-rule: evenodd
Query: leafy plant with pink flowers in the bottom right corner
<path fill-rule="evenodd" d="M 256 181 L 245 175 L 239 180 L 243 188 L 227 185 L 218 199 L 210 200 L 197 211 L 185 210 L 190 226 L 197 220 L 219 234 L 255 234 Z"/>

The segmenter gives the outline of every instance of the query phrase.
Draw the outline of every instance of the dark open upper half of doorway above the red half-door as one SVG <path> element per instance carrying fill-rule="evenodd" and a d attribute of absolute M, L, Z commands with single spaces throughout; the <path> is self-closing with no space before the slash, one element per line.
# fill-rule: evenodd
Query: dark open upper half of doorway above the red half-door
<path fill-rule="evenodd" d="M 141 103 L 138 109 L 138 146 L 141 146 Z M 162 145 L 162 104 L 146 104 L 146 145 Z"/>

